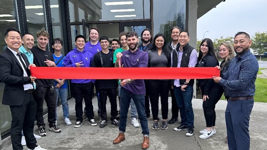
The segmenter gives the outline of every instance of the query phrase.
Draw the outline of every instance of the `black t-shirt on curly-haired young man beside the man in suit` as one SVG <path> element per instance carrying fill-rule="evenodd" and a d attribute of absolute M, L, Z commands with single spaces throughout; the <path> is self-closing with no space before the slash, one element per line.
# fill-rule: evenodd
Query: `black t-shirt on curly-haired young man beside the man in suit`
<path fill-rule="evenodd" d="M 37 67 L 48 67 L 45 63 L 46 59 L 55 62 L 54 57 L 49 50 L 41 50 L 38 46 L 33 46 L 31 52 L 33 53 L 33 63 Z M 36 79 L 35 82 L 36 85 L 43 87 L 50 87 L 54 85 L 52 79 Z"/>

